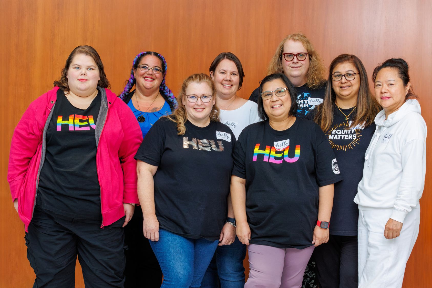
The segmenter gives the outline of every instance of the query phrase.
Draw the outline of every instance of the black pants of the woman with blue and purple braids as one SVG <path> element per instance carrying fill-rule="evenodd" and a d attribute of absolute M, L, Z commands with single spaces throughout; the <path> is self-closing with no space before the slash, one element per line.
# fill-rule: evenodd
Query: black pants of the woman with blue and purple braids
<path fill-rule="evenodd" d="M 124 227 L 126 269 L 124 275 L 126 288 L 156 288 L 162 284 L 162 270 L 150 247 L 149 239 L 143 234 L 143 211 L 135 207 L 132 220 Z"/>

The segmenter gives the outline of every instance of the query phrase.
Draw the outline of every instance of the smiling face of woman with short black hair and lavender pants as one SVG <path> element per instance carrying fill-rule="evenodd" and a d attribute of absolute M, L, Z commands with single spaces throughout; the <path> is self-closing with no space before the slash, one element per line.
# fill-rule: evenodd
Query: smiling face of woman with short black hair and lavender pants
<path fill-rule="evenodd" d="M 289 110 L 291 108 L 291 98 L 286 84 L 282 81 L 282 79 L 274 79 L 272 81 L 266 82 L 263 85 L 263 92 L 274 91 L 278 88 L 286 89 L 285 96 L 277 97 L 273 92 L 270 99 L 263 99 L 264 111 L 271 121 L 280 121 L 288 118 Z"/>

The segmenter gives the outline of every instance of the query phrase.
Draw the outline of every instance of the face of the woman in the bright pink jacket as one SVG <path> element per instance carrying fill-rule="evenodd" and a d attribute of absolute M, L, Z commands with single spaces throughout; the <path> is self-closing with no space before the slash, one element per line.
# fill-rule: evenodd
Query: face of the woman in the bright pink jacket
<path fill-rule="evenodd" d="M 70 91 L 80 97 L 92 95 L 101 79 L 93 58 L 86 54 L 76 54 L 67 70 L 67 85 Z"/>

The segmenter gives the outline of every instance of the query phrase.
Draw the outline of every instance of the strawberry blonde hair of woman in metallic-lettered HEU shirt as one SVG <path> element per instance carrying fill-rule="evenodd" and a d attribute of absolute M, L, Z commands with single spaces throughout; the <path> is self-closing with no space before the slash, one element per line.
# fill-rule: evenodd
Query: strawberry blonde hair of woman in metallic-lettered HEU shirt
<path fill-rule="evenodd" d="M 181 85 L 180 95 L 177 97 L 178 108 L 175 109 L 173 114 L 166 116 L 173 122 L 177 123 L 177 135 L 179 136 L 184 135 L 186 132 L 184 123 L 186 123 L 187 120 L 187 113 L 182 100 L 186 99 L 186 89 L 191 83 L 207 83 L 207 85 L 209 85 L 210 89 L 212 90 L 212 97 L 215 100 L 215 104 L 213 105 L 212 111 L 210 112 L 210 120 L 215 122 L 219 122 L 220 120 L 219 108 L 216 106 L 216 88 L 213 80 L 210 78 L 210 76 L 204 73 L 193 74 L 184 79 L 183 84 Z"/>

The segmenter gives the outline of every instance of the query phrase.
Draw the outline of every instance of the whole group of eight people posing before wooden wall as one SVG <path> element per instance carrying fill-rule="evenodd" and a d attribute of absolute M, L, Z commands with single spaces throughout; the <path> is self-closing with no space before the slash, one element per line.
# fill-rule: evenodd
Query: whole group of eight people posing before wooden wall
<path fill-rule="evenodd" d="M 375 95 L 355 55 L 325 81 L 302 34 L 249 100 L 229 52 L 177 98 L 166 73 L 141 52 L 116 96 L 79 46 L 25 111 L 8 181 L 34 287 L 74 287 L 77 256 L 86 287 L 302 287 L 309 261 L 322 288 L 402 285 L 426 170 L 404 60 L 375 68 Z"/>

